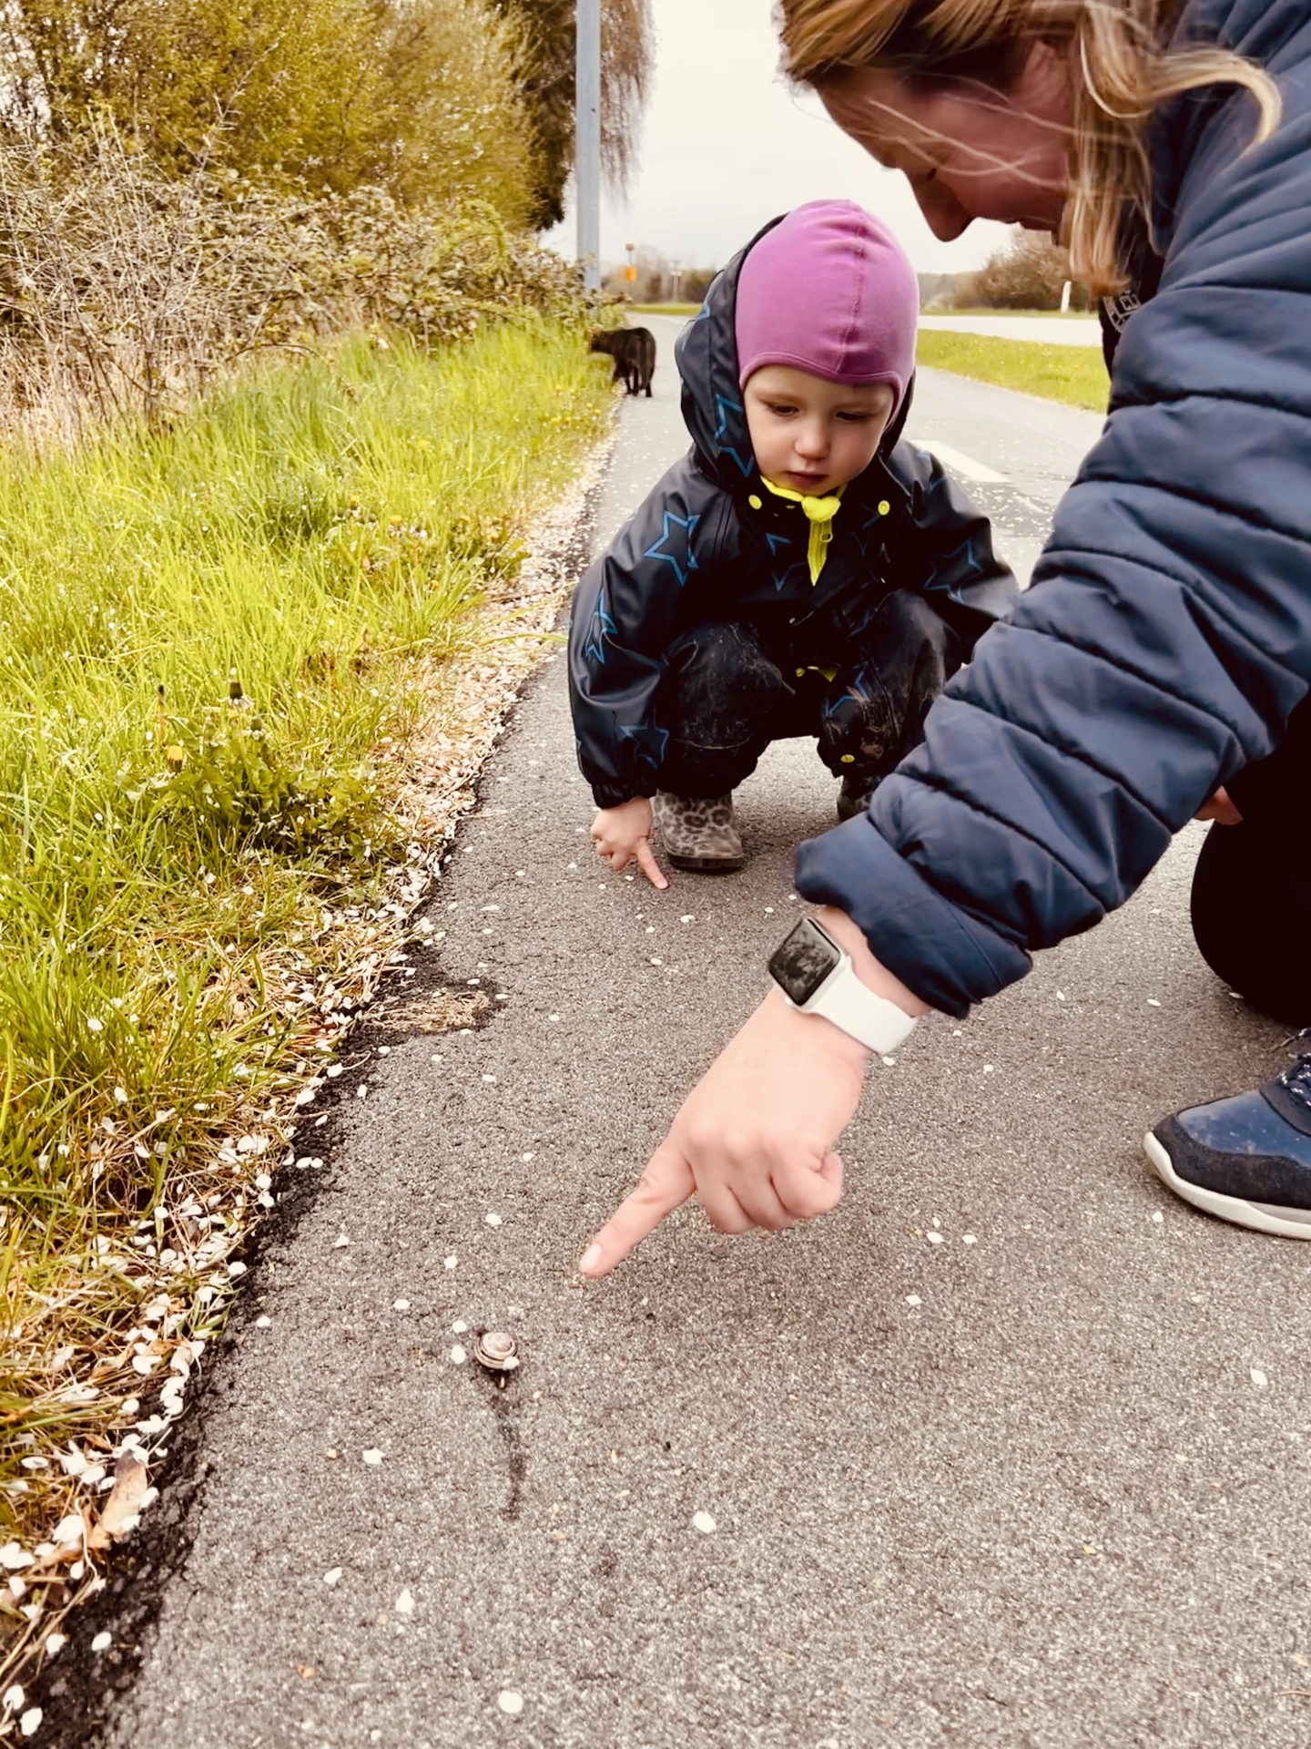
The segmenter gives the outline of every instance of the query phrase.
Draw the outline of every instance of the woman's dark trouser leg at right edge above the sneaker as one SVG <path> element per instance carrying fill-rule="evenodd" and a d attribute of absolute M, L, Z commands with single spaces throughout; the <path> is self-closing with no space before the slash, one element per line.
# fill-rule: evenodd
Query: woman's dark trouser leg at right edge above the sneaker
<path fill-rule="evenodd" d="M 1211 826 L 1192 876 L 1192 932 L 1231 990 L 1311 1027 L 1311 700 L 1229 785 L 1239 826 Z"/>

